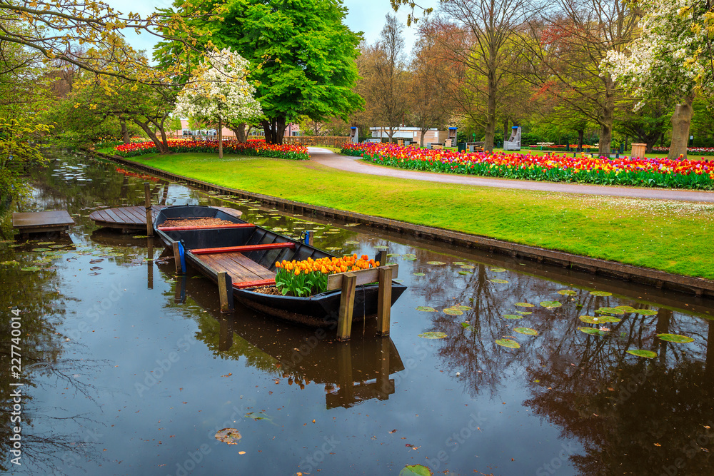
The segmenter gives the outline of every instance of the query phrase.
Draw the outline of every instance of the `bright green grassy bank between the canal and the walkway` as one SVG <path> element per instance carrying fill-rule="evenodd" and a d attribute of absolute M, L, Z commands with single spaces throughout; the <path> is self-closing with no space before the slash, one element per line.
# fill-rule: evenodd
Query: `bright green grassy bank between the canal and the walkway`
<path fill-rule="evenodd" d="M 211 153 L 132 160 L 216 185 L 340 210 L 714 278 L 714 207 L 512 191 L 336 171 L 312 161 Z"/>

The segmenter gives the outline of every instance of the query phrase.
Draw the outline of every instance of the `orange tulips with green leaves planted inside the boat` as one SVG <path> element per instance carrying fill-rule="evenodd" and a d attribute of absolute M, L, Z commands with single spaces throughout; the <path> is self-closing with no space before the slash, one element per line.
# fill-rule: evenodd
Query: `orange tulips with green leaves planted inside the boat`
<path fill-rule="evenodd" d="M 310 296 L 327 290 L 327 276 L 347 271 L 377 268 L 379 261 L 367 255 L 345 255 L 342 258 L 308 258 L 303 261 L 276 261 L 276 288 L 283 295 Z"/>

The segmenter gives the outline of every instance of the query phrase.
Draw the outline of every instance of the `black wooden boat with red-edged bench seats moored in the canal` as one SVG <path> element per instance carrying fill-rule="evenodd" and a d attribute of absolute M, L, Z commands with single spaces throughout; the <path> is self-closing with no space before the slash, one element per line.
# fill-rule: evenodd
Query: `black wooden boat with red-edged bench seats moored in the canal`
<path fill-rule="evenodd" d="M 220 218 L 230 224 L 218 226 L 164 226 L 167 220 Z M 304 325 L 323 327 L 338 320 L 341 290 L 306 298 L 264 294 L 257 288 L 275 283 L 276 261 L 333 257 L 301 241 L 288 238 L 261 226 L 208 206 L 172 206 L 159 211 L 154 221 L 156 233 L 167 248 L 181 243 L 188 265 L 216 281 L 226 271 L 233 283 L 233 296 L 248 308 Z M 391 303 L 406 290 L 392 281 Z M 378 285 L 356 288 L 353 320 L 371 318 L 377 313 Z"/>

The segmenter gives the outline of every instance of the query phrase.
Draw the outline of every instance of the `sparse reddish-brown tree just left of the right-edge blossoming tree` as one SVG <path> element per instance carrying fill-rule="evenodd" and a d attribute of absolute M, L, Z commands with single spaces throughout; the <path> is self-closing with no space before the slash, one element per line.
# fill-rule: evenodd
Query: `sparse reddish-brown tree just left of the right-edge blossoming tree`
<path fill-rule="evenodd" d="M 557 0 L 528 21 L 523 46 L 531 68 L 523 77 L 557 96 L 600 126 L 600 153 L 610 153 L 613 122 L 623 91 L 601 63 L 608 51 L 623 51 L 638 14 L 623 0 Z"/>

